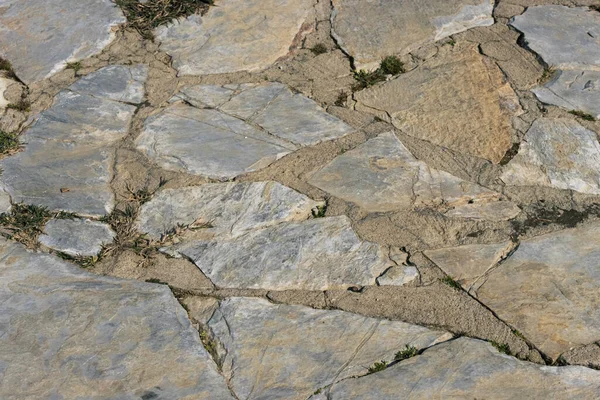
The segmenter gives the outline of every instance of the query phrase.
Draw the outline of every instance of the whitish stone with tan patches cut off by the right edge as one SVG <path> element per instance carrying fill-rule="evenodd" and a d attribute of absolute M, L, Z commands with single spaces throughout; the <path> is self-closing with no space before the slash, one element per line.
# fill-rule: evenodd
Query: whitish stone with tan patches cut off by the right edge
<path fill-rule="evenodd" d="M 600 144 L 572 119 L 536 120 L 501 179 L 507 185 L 549 186 L 600 194 Z"/>

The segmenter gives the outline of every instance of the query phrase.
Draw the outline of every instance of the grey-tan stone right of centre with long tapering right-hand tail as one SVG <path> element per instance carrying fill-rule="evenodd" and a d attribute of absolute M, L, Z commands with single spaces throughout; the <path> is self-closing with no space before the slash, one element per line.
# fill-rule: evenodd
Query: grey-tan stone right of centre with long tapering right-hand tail
<path fill-rule="evenodd" d="M 309 183 L 369 212 L 442 203 L 470 210 L 471 215 L 479 217 L 489 212 L 497 219 L 508 219 L 519 212 L 512 205 L 494 213 L 489 207 L 495 207 L 494 202 L 501 197 L 499 193 L 430 168 L 415 159 L 392 132 L 338 156 L 313 175 Z"/>

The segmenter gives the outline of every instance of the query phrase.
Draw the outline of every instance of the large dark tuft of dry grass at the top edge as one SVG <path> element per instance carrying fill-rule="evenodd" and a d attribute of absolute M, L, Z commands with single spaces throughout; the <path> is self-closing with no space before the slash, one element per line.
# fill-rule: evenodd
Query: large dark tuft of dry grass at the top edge
<path fill-rule="evenodd" d="M 116 0 L 127 17 L 127 23 L 145 39 L 154 39 L 152 30 L 177 18 L 205 13 L 212 0 Z"/>

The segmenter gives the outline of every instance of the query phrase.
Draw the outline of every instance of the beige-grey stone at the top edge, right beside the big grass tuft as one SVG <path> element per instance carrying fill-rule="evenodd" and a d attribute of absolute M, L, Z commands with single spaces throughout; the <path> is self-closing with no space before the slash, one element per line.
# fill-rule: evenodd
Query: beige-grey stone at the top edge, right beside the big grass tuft
<path fill-rule="evenodd" d="M 180 75 L 256 71 L 288 54 L 314 24 L 314 0 L 222 0 L 204 16 L 156 29 Z"/>

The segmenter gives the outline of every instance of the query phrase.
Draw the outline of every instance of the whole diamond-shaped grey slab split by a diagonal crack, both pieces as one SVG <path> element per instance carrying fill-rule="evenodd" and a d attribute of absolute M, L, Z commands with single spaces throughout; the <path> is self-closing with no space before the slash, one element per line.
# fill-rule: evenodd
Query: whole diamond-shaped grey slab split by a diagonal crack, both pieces
<path fill-rule="evenodd" d="M 163 168 L 215 179 L 264 168 L 298 146 L 352 131 L 279 83 L 193 86 L 173 102 L 146 120 L 138 149 Z"/>

